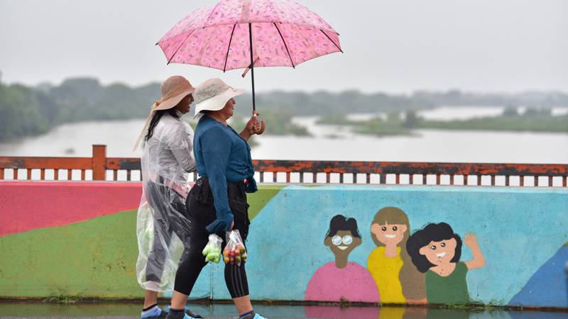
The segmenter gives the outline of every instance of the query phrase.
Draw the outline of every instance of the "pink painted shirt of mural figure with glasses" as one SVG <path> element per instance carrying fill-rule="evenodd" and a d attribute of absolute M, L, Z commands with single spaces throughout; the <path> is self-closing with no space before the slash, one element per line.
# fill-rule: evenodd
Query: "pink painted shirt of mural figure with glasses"
<path fill-rule="evenodd" d="M 315 274 L 307 284 L 306 301 L 348 301 L 378 303 L 377 286 L 365 267 L 356 262 L 348 262 L 339 269 L 335 262 L 328 262 Z"/>

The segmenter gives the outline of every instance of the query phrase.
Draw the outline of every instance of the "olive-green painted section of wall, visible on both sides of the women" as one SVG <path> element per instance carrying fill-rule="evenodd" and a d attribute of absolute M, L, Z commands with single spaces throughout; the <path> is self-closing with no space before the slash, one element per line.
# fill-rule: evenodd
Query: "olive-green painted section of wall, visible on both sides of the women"
<path fill-rule="evenodd" d="M 282 186 L 249 194 L 250 218 Z M 136 211 L 0 237 L 0 298 L 140 298 Z"/>

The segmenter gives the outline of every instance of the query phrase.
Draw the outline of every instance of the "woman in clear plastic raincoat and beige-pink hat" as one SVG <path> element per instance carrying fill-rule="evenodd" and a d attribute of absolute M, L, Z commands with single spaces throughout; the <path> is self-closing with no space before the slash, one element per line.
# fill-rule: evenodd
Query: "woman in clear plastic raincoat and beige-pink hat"
<path fill-rule="evenodd" d="M 158 292 L 173 289 L 191 225 L 185 198 L 190 191 L 189 173 L 196 168 L 193 130 L 180 118 L 190 111 L 195 88 L 185 77 L 174 76 L 163 82 L 161 91 L 162 98 L 153 104 L 135 146 L 143 138 L 143 193 L 136 221 L 136 273 L 146 289 L 141 318 L 165 317 L 157 305 Z"/>

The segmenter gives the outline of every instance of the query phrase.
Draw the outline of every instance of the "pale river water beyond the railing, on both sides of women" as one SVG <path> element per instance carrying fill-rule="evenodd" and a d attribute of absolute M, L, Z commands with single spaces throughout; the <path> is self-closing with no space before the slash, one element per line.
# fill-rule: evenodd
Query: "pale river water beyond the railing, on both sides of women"
<path fill-rule="evenodd" d="M 422 111 L 431 119 L 464 119 L 497 115 L 502 108 L 435 108 Z M 554 113 L 568 112 L 555 108 Z M 376 114 L 356 114 L 369 118 Z M 189 116 L 186 116 L 189 118 Z M 351 133 L 337 125 L 318 125 L 317 117 L 298 117 L 312 136 L 260 135 L 254 159 L 363 160 L 409 162 L 568 163 L 567 133 L 416 130 L 412 136 L 376 137 Z M 90 157 L 93 144 L 107 145 L 109 157 L 138 157 L 133 144 L 143 120 L 60 125 L 45 135 L 0 143 L 0 156 Z M 270 125 L 270 123 L 268 123 Z"/>

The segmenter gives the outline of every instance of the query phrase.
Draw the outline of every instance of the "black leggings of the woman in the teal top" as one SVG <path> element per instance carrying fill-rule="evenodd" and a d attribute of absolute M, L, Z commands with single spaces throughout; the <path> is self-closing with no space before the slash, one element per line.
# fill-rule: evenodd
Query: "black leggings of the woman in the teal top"
<path fill-rule="evenodd" d="M 246 203 L 246 185 L 241 181 L 227 182 L 227 195 L 229 198 L 229 207 L 234 215 L 234 229 L 239 230 L 243 241 L 249 234 L 249 204 Z M 187 195 L 185 202 L 187 207 L 187 216 L 191 221 L 190 245 L 186 258 L 180 263 L 178 272 L 175 274 L 174 290 L 185 295 L 191 293 L 197 277 L 201 270 L 207 264 L 202 250 L 207 245 L 209 233 L 205 230 L 205 226 L 215 220 L 215 208 L 213 206 L 213 195 L 209 189 L 207 179 L 198 179 L 195 186 Z M 217 233 L 223 239 L 222 250 L 225 247 L 225 234 Z M 231 298 L 238 298 L 249 295 L 249 282 L 246 280 L 245 271 L 246 262 L 241 265 L 226 264 L 225 265 L 225 284 L 229 289 Z"/>

